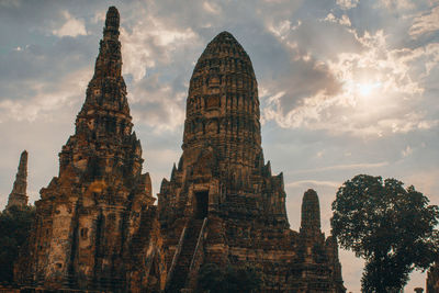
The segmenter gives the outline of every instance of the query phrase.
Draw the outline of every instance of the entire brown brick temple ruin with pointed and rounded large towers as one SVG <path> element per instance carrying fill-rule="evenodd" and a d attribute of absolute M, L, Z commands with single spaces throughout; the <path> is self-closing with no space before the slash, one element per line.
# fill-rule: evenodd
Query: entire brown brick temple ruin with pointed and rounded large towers
<path fill-rule="evenodd" d="M 304 194 L 300 232 L 289 227 L 282 173 L 273 176 L 263 158 L 252 65 L 227 32 L 193 70 L 183 154 L 154 205 L 121 74 L 119 25 L 112 7 L 59 174 L 35 203 L 18 283 L 196 292 L 204 263 L 245 263 L 261 268 L 260 292 L 345 292 L 337 243 L 320 230 L 315 191 Z"/>

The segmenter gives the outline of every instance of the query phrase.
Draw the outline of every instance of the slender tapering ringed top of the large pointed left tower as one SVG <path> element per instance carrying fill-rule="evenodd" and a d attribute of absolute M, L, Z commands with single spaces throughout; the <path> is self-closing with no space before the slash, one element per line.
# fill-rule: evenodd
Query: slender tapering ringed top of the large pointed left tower
<path fill-rule="evenodd" d="M 132 117 L 122 77 L 120 15 L 115 7 L 106 12 L 94 75 L 87 89 L 86 102 L 77 119 L 77 133 L 91 137 L 131 135 Z"/>

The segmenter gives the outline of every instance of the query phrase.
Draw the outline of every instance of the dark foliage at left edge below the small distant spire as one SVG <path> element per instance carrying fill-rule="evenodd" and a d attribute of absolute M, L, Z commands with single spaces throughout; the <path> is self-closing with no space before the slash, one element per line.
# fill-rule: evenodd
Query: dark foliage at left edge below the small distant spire
<path fill-rule="evenodd" d="M 0 282 L 13 282 L 13 264 L 29 236 L 35 209 L 12 206 L 0 213 Z"/>

